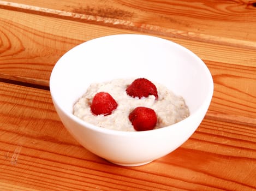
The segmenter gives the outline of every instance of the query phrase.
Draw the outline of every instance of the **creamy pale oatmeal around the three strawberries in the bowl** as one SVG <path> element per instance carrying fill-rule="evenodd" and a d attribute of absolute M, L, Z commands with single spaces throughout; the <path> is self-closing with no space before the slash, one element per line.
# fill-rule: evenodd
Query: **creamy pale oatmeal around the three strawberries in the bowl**
<path fill-rule="evenodd" d="M 85 122 L 99 127 L 135 131 L 129 121 L 129 114 L 138 106 L 153 109 L 157 114 L 156 128 L 170 126 L 189 116 L 189 110 L 182 97 L 176 96 L 168 88 L 154 83 L 158 90 L 158 99 L 154 96 L 147 98 L 133 98 L 127 95 L 126 88 L 134 79 L 115 79 L 109 82 L 93 83 L 88 87 L 84 96 L 74 105 L 74 115 Z M 111 115 L 93 115 L 90 105 L 94 95 L 98 92 L 108 92 L 118 103 Z"/>

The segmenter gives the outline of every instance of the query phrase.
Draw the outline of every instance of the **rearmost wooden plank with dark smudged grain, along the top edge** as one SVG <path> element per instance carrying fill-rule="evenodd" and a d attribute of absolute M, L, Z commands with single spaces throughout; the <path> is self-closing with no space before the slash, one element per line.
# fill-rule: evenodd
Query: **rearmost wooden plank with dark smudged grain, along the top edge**
<path fill-rule="evenodd" d="M 0 1 L 5 9 L 255 50 L 252 1 Z"/>

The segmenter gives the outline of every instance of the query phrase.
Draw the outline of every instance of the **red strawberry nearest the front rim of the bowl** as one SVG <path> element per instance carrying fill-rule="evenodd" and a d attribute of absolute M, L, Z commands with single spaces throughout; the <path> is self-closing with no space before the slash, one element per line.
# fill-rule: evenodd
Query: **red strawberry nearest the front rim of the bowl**
<path fill-rule="evenodd" d="M 129 114 L 129 120 L 137 131 L 152 130 L 157 124 L 157 115 L 150 108 L 137 107 Z"/>

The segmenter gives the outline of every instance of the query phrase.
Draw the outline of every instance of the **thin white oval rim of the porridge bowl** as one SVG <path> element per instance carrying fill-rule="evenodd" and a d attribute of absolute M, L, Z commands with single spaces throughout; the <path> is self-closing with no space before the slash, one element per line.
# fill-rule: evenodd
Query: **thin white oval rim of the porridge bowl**
<path fill-rule="evenodd" d="M 199 106 L 199 108 L 193 112 L 193 114 L 190 114 L 187 118 L 185 118 L 184 120 L 180 121 L 180 122 L 177 122 L 175 124 L 171 124 L 170 126 L 166 126 L 166 127 L 162 127 L 162 128 L 158 128 L 158 129 L 152 129 L 152 130 L 146 130 L 146 131 L 122 131 L 122 130 L 115 130 L 115 129 L 108 129 L 108 128 L 102 128 L 102 127 L 98 127 L 96 125 L 93 125 L 91 123 L 88 123 L 88 122 L 85 122 L 83 120 L 81 120 L 80 118 L 74 116 L 72 114 L 72 112 L 68 112 L 66 109 L 63 109 L 63 107 L 61 106 L 61 104 L 59 104 L 57 102 L 57 100 L 55 99 L 55 95 L 52 91 L 52 81 L 53 81 L 53 75 L 55 73 L 55 68 L 56 68 L 56 65 L 59 64 L 59 60 L 64 56 L 66 55 L 67 52 L 73 50 L 73 49 L 76 49 L 78 46 L 81 46 L 82 44 L 86 44 L 86 43 L 91 43 L 93 40 L 100 40 L 102 38 L 109 38 L 109 37 L 114 37 L 114 36 L 124 36 L 124 35 L 133 35 L 133 36 L 143 36 L 143 37 L 146 37 L 146 38 L 158 38 L 158 39 L 161 39 L 161 40 L 165 40 L 165 41 L 168 41 L 169 43 L 172 43 L 172 44 L 175 44 L 176 46 L 179 46 L 181 49 L 185 50 L 186 52 L 189 52 L 190 54 L 192 54 L 195 58 L 197 58 L 199 61 L 200 61 L 200 64 L 203 65 L 204 67 L 204 70 L 206 72 L 206 76 L 207 76 L 207 80 L 209 81 L 209 92 L 207 92 L 207 96 L 205 97 L 204 99 L 204 102 Z M 195 55 L 194 52 L 190 51 L 189 49 L 187 49 L 186 47 L 180 45 L 180 44 L 177 44 L 175 43 L 174 41 L 171 41 L 171 40 L 168 40 L 168 39 L 164 39 L 164 38 L 160 38 L 160 37 L 156 37 L 156 36 L 152 36 L 152 35 L 145 35 L 145 34 L 113 34 L 113 35 L 106 35 L 104 37 L 99 37 L 99 38 L 94 38 L 94 39 L 91 39 L 91 40 L 88 40 L 88 41 L 85 41 L 81 44 L 78 44 L 76 46 L 74 46 L 72 49 L 70 49 L 69 51 L 67 51 L 66 53 L 64 53 L 64 55 L 62 55 L 58 61 L 56 62 L 56 64 L 54 65 L 52 71 L 51 71 L 51 75 L 50 75 L 50 81 L 49 81 L 49 88 L 50 88 L 50 94 L 51 94 L 51 98 L 52 98 L 52 101 L 53 101 L 53 104 L 55 105 L 55 108 L 56 108 L 56 104 L 58 106 L 58 108 L 67 116 L 69 117 L 70 120 L 73 120 L 75 121 L 76 123 L 78 123 L 81 127 L 83 128 L 90 128 L 91 130 L 94 130 L 94 131 L 97 131 L 97 132 L 101 132 L 101 133 L 104 133 L 104 134 L 111 134 L 111 135 L 122 135 L 122 136 L 140 136 L 142 134 L 155 134 L 156 132 L 161 132 L 161 131 L 165 131 L 165 130 L 168 130 L 170 128 L 175 128 L 176 126 L 180 126 L 180 124 L 182 123 L 186 123 L 187 121 L 190 121 L 193 116 L 197 115 L 199 112 L 200 112 L 200 108 L 202 108 L 203 106 L 207 106 L 207 109 L 206 111 L 208 110 L 209 106 L 210 106 L 210 103 L 211 103 L 211 99 L 213 97 L 213 91 L 214 91 L 214 83 L 213 83 L 213 78 L 212 78 L 212 75 L 211 75 L 211 72 L 209 70 L 209 68 L 207 68 L 207 65 L 197 56 Z M 197 129 L 197 128 L 195 128 Z"/>

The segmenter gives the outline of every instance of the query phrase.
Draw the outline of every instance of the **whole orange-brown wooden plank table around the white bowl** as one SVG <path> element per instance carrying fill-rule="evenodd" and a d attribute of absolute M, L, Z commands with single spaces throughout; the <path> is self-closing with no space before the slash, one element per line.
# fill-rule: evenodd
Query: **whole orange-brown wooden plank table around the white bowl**
<path fill-rule="evenodd" d="M 123 33 L 187 47 L 215 82 L 192 137 L 130 168 L 80 146 L 49 93 L 65 52 Z M 0 190 L 256 190 L 256 1 L 0 1 Z"/>

